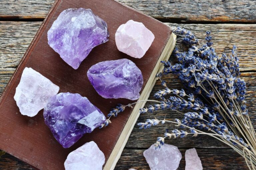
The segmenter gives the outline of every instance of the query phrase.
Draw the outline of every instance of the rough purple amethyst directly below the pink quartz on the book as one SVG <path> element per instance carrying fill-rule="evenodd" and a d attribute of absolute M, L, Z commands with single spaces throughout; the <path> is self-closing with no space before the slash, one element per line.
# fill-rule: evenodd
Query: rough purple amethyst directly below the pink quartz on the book
<path fill-rule="evenodd" d="M 94 89 L 104 98 L 136 100 L 140 97 L 143 77 L 131 60 L 99 62 L 88 70 L 87 76 Z"/>

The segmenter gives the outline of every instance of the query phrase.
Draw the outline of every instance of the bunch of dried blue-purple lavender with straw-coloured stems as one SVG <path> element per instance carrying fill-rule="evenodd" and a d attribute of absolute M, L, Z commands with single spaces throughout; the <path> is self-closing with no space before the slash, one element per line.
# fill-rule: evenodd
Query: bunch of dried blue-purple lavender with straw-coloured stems
<path fill-rule="evenodd" d="M 201 45 L 195 36 L 180 27 L 173 28 L 173 33 L 183 37 L 187 45 L 187 52 L 179 52 L 176 48 L 174 55 L 178 63 L 171 65 L 169 61 L 162 61 L 164 69 L 156 77 L 165 87 L 155 93 L 154 105 L 140 110 L 140 113 L 152 113 L 157 110 L 172 110 L 182 115 L 182 120 L 176 119 L 147 119 L 139 123 L 140 128 L 150 128 L 159 124 L 172 123 L 183 130 L 166 131 L 164 136 L 158 137 L 156 148 L 164 144 L 165 139 L 210 135 L 237 151 L 242 155 L 249 169 L 256 169 L 256 134 L 246 109 L 246 83 L 239 77 L 239 64 L 236 46 L 232 54 L 218 56 L 213 48 L 210 32 L 206 32 L 206 43 Z M 184 89 L 170 89 L 162 80 L 162 75 L 175 74 L 184 85 Z M 112 109 L 109 118 L 123 112 L 125 107 L 133 104 L 121 105 Z M 111 123 L 111 122 L 110 122 Z M 109 124 L 106 120 L 102 127 Z"/>

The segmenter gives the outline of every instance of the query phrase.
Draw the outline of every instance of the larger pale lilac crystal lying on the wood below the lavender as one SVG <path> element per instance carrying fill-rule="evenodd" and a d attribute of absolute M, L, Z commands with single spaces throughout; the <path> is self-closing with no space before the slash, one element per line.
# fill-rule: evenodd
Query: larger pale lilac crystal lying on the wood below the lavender
<path fill-rule="evenodd" d="M 164 144 L 155 149 L 154 144 L 143 152 L 151 170 L 176 170 L 182 158 L 176 146 Z"/>

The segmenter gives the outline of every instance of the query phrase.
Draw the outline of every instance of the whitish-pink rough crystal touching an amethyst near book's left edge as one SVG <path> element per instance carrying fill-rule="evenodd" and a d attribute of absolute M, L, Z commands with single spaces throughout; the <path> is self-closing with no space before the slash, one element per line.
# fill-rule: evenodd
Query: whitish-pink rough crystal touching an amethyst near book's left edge
<path fill-rule="evenodd" d="M 39 72 L 25 67 L 14 100 L 22 115 L 33 117 L 44 108 L 49 98 L 58 93 L 59 89 Z"/>

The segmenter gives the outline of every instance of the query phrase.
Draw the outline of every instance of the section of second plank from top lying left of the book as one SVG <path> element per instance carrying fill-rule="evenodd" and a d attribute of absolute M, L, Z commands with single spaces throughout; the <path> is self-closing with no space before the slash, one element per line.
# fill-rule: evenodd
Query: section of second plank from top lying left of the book
<path fill-rule="evenodd" d="M 40 25 L 41 22 L 0 22 L 1 74 L 15 71 Z"/>

